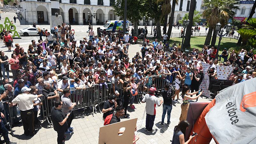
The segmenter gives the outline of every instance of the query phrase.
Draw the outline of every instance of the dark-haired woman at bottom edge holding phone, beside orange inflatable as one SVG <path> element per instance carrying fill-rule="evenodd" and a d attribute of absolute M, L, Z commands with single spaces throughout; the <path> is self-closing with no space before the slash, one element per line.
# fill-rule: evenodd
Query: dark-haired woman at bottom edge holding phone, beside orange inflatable
<path fill-rule="evenodd" d="M 187 120 L 182 120 L 177 126 L 174 127 L 174 132 L 172 136 L 172 144 L 188 144 L 193 137 L 190 135 L 189 139 L 185 142 L 185 133 L 189 127 L 189 122 Z"/>

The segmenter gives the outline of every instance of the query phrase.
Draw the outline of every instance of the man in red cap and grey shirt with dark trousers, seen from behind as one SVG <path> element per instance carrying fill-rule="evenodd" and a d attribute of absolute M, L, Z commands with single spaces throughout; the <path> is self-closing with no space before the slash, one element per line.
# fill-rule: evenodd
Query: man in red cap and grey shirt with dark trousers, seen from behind
<path fill-rule="evenodd" d="M 142 100 L 142 103 L 146 102 L 146 130 L 152 133 L 155 132 L 155 130 L 153 130 L 152 128 L 156 117 L 156 105 L 160 106 L 163 103 L 163 100 L 161 100 L 159 103 L 157 97 L 154 95 L 156 90 L 156 88 L 151 87 L 149 89 L 149 94 L 146 94 Z"/>

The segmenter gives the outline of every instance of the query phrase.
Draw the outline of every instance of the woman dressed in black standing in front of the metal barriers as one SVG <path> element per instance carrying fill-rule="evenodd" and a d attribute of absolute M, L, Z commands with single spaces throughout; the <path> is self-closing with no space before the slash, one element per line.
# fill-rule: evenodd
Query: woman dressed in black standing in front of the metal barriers
<path fill-rule="evenodd" d="M 132 89 L 132 87 L 129 85 L 128 82 L 124 82 L 123 83 L 123 98 L 124 98 L 124 118 L 129 119 L 130 117 L 127 116 L 127 108 L 128 108 L 128 104 L 129 104 L 129 99 L 130 99 L 130 90 Z"/>

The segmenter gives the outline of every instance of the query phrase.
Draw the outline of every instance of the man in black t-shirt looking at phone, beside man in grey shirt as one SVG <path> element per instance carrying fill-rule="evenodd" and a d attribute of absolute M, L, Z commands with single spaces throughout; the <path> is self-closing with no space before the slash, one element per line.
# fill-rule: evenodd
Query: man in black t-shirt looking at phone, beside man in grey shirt
<path fill-rule="evenodd" d="M 64 113 L 61 111 L 62 102 L 59 99 L 56 99 L 54 105 L 55 106 L 51 110 L 53 128 L 58 133 L 58 144 L 62 144 L 65 142 L 65 130 L 68 127 L 67 119 L 70 113 L 68 113 L 67 116 L 64 115 Z"/>

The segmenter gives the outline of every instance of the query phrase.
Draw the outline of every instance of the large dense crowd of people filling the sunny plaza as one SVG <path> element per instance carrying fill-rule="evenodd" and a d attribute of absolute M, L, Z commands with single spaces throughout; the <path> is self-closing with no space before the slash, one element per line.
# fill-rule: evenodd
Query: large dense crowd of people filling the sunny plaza
<path fill-rule="evenodd" d="M 165 45 L 166 35 L 163 42 L 156 39 L 152 44 L 145 44 L 139 48 L 140 52 L 129 58 L 128 48 L 133 40 L 129 32 L 104 35 L 97 31 L 96 34 L 91 27 L 88 37 L 79 42 L 74 36 L 71 26 L 63 23 L 50 32 L 42 31 L 40 39 L 32 40 L 26 48 L 16 43 L 11 58 L 0 51 L 3 72 L 0 75 L 3 78 L 0 92 L 3 101 L 7 101 L 1 111 L 7 121 L 0 120 L 1 124 L 11 119 L 13 126 L 20 124 L 16 111 L 18 106 L 24 134 L 33 136 L 36 133 L 35 127 L 40 126 L 37 116 L 43 107 L 52 114 L 51 122 L 58 133 L 57 141 L 62 143 L 65 134 L 73 133 L 72 109 L 83 103 L 83 98 L 77 98 L 78 103 L 77 99 L 70 98 L 70 89 L 84 90 L 97 84 L 100 91 L 107 91 L 103 97 L 108 97 L 108 100 L 102 109 L 102 119 L 107 124 L 119 122 L 120 117 L 129 118 L 127 109 L 135 109 L 133 102 L 138 97 L 142 103 L 146 103 L 146 130 L 153 133 L 156 105 L 163 104 L 163 126 L 166 113 L 166 125 L 170 125 L 172 103 L 182 103 L 180 124 L 175 130 L 179 132 L 174 138 L 177 139 L 177 135 L 179 137 L 180 133 L 184 134 L 184 126 L 187 125 L 184 120 L 187 119 L 189 102 L 197 101 L 202 94 L 199 90 L 203 79 L 201 62 L 210 65 L 210 78 L 217 78 L 216 65 L 235 67 L 229 77 L 234 83 L 256 76 L 256 54 L 252 50 L 247 52 L 242 49 L 236 55 L 234 51 L 224 48 L 219 56 L 224 59 L 222 62 L 216 59 L 216 47 L 204 46 L 201 52 L 193 48 L 186 55 L 180 49 L 180 44 L 173 44 L 172 47 Z M 165 48 L 169 51 L 165 51 Z M 9 68 L 13 84 L 9 84 Z M 170 85 L 175 86 L 173 97 L 169 91 Z M 161 87 L 163 89 L 159 90 Z M 55 95 L 49 95 L 51 92 Z M 193 95 L 196 96 L 191 97 Z M 163 97 L 160 102 L 157 98 L 159 96 Z M 49 107 L 49 103 L 53 102 L 54 107 Z M 43 113 L 40 111 L 41 116 Z M 134 142 L 138 139 L 135 136 Z M 4 140 L 8 143 L 6 137 Z"/>

